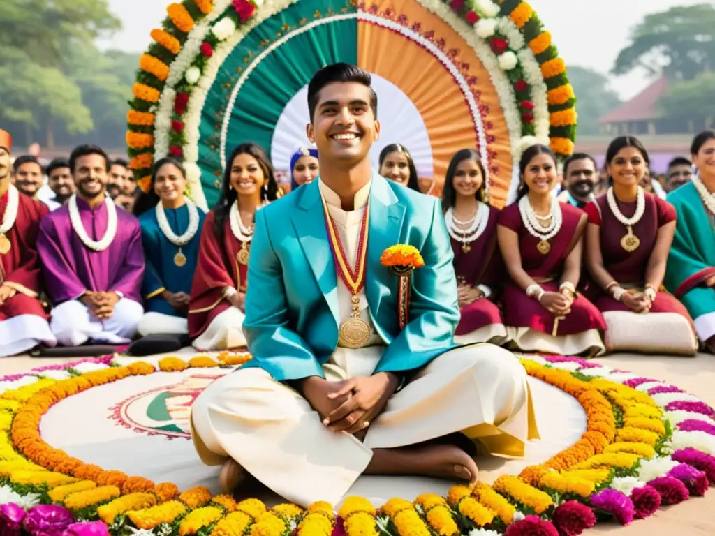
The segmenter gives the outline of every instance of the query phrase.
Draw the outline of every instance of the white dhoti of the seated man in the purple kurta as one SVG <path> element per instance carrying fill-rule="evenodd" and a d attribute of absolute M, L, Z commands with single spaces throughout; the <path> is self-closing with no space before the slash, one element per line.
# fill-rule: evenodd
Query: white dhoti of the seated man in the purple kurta
<path fill-rule="evenodd" d="M 98 320 L 85 304 L 73 299 L 52 309 L 50 329 L 62 346 L 79 346 L 87 341 L 125 344 L 137 334 L 143 314 L 142 304 L 121 298 L 114 304 L 112 317 Z"/>

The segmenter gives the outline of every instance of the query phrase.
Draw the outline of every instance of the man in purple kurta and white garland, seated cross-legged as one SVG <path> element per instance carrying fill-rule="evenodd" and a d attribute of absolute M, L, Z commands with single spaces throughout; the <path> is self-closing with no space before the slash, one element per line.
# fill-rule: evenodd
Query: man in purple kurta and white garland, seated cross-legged
<path fill-rule="evenodd" d="M 77 194 L 42 220 L 37 238 L 54 305 L 51 330 L 64 346 L 129 342 L 144 313 L 139 220 L 106 197 L 109 158 L 102 149 L 77 147 L 69 169 Z"/>

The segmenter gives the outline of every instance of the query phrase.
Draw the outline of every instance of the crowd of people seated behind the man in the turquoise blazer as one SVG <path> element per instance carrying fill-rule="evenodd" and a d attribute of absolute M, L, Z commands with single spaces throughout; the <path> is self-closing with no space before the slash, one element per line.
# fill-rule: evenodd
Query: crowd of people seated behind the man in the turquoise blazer
<path fill-rule="evenodd" d="M 255 215 L 282 195 L 261 147 L 234 149 L 208 214 L 185 195 L 173 157 L 156 162 L 139 196 L 99 147 L 44 170 L 33 157 L 11 166 L 10 152 L 0 131 L 0 357 L 100 343 L 134 342 L 144 354 L 245 346 Z M 715 131 L 695 137 L 691 158 L 697 173 L 674 161 L 678 187 L 663 199 L 646 187 L 646 148 L 618 137 L 605 192 L 595 195 L 593 158 L 575 154 L 556 195 L 556 157 L 534 145 L 521 157 L 516 202 L 500 211 L 480 154 L 457 152 L 442 199 L 461 310 L 455 341 L 586 357 L 715 353 Z M 299 149 L 290 165 L 292 190 L 314 181 L 316 149 Z M 377 171 L 419 192 L 402 145 L 383 149 Z M 41 202 L 44 174 L 55 197 Z"/>

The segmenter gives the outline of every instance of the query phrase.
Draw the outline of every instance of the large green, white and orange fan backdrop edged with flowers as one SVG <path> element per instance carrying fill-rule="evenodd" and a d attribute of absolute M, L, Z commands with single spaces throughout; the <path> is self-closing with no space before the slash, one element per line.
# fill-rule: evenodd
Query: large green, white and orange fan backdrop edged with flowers
<path fill-rule="evenodd" d="M 127 118 L 143 188 L 154 159 L 173 154 L 194 201 L 211 207 L 227 154 L 242 142 L 287 169 L 307 142 L 305 86 L 335 61 L 375 75 L 383 138 L 373 159 L 384 144 L 405 144 L 435 192 L 458 149 L 478 149 L 498 205 L 516 191 L 524 147 L 573 152 L 566 66 L 526 2 L 184 0 L 167 11 Z"/>

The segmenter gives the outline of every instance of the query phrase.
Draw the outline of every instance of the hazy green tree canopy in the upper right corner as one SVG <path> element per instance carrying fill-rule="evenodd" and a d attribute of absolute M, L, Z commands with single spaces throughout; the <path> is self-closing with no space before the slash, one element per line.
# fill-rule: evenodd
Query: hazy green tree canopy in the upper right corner
<path fill-rule="evenodd" d="M 691 80 L 715 69 L 715 6 L 712 3 L 678 6 L 646 15 L 621 50 L 613 74 L 638 67 L 670 79 Z"/>

